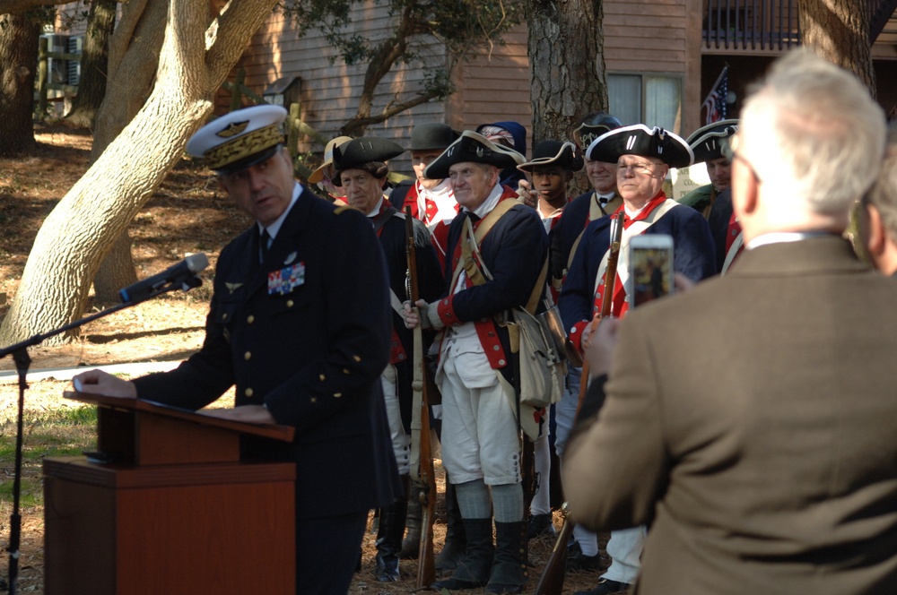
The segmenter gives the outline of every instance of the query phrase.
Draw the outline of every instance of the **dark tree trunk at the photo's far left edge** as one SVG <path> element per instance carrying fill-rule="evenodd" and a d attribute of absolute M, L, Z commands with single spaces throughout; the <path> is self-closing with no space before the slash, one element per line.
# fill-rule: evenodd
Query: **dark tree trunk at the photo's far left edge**
<path fill-rule="evenodd" d="M 0 155 L 31 151 L 34 142 L 34 81 L 39 24 L 27 15 L 0 17 Z"/>

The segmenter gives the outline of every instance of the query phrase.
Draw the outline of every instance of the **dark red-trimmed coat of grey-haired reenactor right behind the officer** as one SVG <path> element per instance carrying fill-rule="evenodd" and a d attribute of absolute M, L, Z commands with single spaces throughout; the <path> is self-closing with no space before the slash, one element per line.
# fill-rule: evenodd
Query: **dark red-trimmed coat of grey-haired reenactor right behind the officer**
<path fill-rule="evenodd" d="M 386 214 L 381 212 L 372 218 L 379 223 Z M 445 293 L 445 282 L 442 279 L 439 259 L 433 248 L 430 232 L 419 220 L 414 225 L 414 260 L 417 263 L 417 291 L 421 299 L 428 303 L 438 299 Z M 405 287 L 405 274 L 408 270 L 408 254 L 406 252 L 407 231 L 405 230 L 405 214 L 393 212 L 379 229 L 380 245 L 386 255 L 389 274 L 389 287 L 395 292 L 399 301 L 411 297 Z M 414 331 L 405 327 L 405 319 L 393 308 L 392 312 L 392 345 L 389 361 L 396 366 L 396 385 L 398 389 L 399 407 L 402 411 L 402 423 L 405 432 L 411 431 L 412 378 L 414 375 Z M 427 353 L 431 333 L 425 332 L 423 353 Z"/>

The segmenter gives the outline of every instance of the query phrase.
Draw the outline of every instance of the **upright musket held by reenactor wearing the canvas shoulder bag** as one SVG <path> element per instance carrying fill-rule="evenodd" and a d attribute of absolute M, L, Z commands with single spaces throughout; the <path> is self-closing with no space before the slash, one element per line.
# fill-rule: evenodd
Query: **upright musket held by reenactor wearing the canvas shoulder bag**
<path fill-rule="evenodd" d="M 417 256 L 414 252 L 414 217 L 405 207 L 405 254 L 408 258 L 407 290 L 412 307 L 419 298 L 417 289 Z M 421 325 L 414 327 L 414 366 L 411 409 L 411 473 L 416 497 L 421 500 L 421 542 L 417 556 L 417 589 L 429 589 L 436 580 L 433 553 L 433 520 L 436 514 L 436 474 L 433 470 L 430 444 L 430 407 L 427 401 L 426 364 L 423 360 Z"/>

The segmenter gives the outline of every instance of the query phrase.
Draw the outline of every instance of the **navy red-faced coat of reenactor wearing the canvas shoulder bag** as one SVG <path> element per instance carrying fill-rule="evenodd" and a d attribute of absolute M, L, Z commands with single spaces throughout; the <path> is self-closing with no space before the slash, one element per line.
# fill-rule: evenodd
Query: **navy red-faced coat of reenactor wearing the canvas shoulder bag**
<path fill-rule="evenodd" d="M 502 196 L 502 200 L 515 200 L 517 194 L 506 188 Z M 458 243 L 464 222 L 470 215 L 470 212 L 462 211 L 448 228 L 448 257 L 444 270 L 447 286 L 460 256 Z M 548 254 L 548 236 L 536 209 L 518 204 L 501 216 L 479 247 L 492 280 L 441 299 L 440 319 L 447 326 L 475 322 L 490 365 L 501 370 L 513 385 L 508 331 L 494 323 L 492 317 L 514 306 L 527 305 Z"/>

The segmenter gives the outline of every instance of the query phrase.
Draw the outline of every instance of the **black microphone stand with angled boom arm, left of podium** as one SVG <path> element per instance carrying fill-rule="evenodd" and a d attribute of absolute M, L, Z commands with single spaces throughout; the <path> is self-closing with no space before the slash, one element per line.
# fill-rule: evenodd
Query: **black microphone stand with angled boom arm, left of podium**
<path fill-rule="evenodd" d="M 19 496 L 22 492 L 22 434 L 25 408 L 25 390 L 28 388 L 28 383 L 25 381 L 25 378 L 28 375 L 28 367 L 31 365 L 31 358 L 28 355 L 28 348 L 34 345 L 38 345 L 39 343 L 49 339 L 50 337 L 56 336 L 57 334 L 60 334 L 62 332 L 71 331 L 72 329 L 76 329 L 86 323 L 91 323 L 98 318 L 102 318 L 103 316 L 108 316 L 110 314 L 118 312 L 119 310 L 124 310 L 126 307 L 136 306 L 137 304 L 152 297 L 159 296 L 163 293 L 168 293 L 169 291 L 173 291 L 174 289 L 184 289 L 185 291 L 187 291 L 189 289 L 199 287 L 202 284 L 203 281 L 195 275 L 186 277 L 182 280 L 172 281 L 158 289 L 153 289 L 148 295 L 141 299 L 123 302 L 121 304 L 118 304 L 117 306 L 112 306 L 110 308 L 107 308 L 106 310 L 102 310 L 101 312 L 97 312 L 96 314 L 92 314 L 90 316 L 82 318 L 81 320 L 76 320 L 74 321 L 74 323 L 68 323 L 60 326 L 54 331 L 36 334 L 30 339 L 26 339 L 25 341 L 15 343 L 14 345 L 10 345 L 9 347 L 6 347 L 4 349 L 0 349 L 0 359 L 3 359 L 6 356 L 12 354 L 13 361 L 15 362 L 15 369 L 19 375 L 19 411 L 18 418 L 16 420 L 15 468 L 13 471 L 13 513 L 10 515 L 9 522 L 9 595 L 15 595 L 16 584 L 19 579 L 19 547 L 22 539 L 22 515 L 19 514 Z"/>

